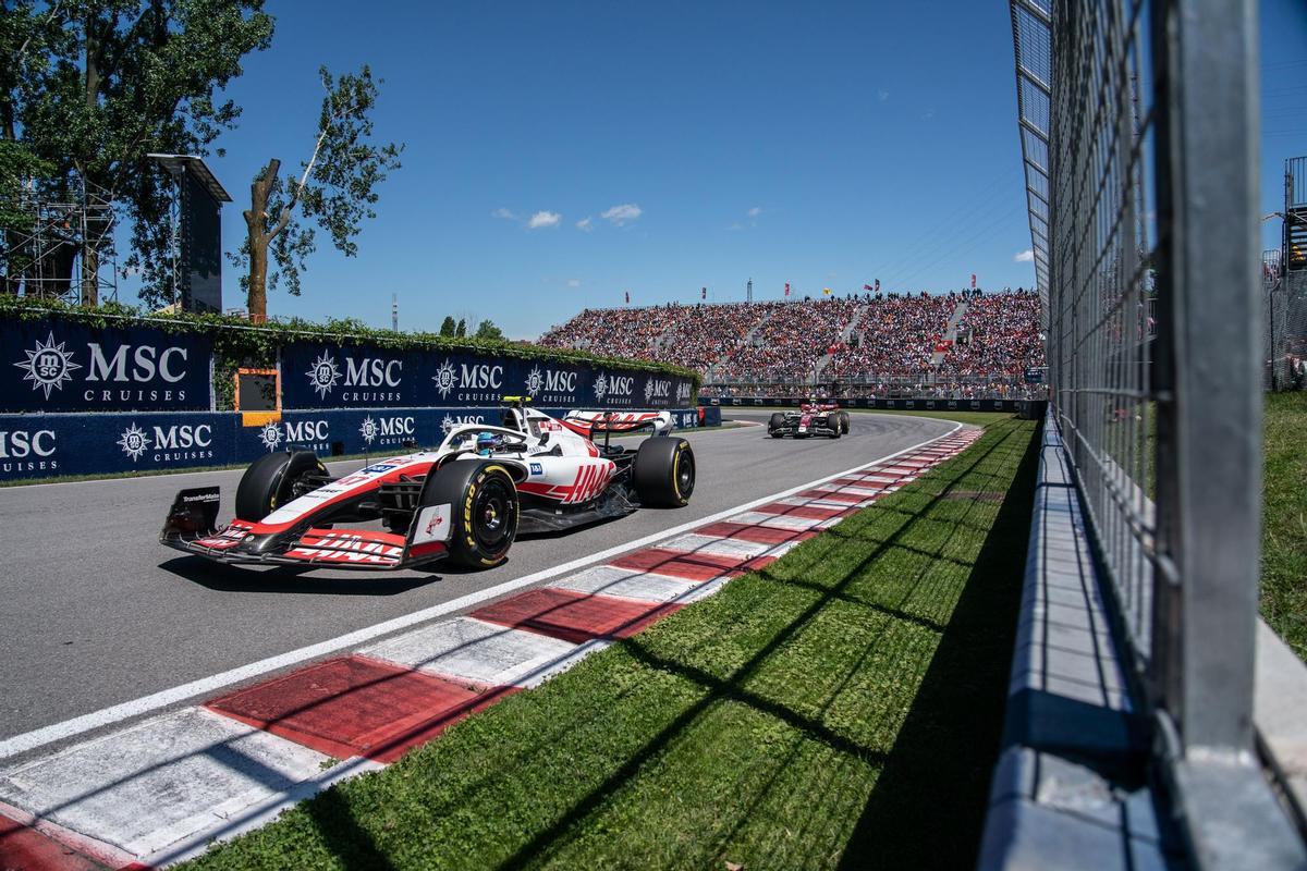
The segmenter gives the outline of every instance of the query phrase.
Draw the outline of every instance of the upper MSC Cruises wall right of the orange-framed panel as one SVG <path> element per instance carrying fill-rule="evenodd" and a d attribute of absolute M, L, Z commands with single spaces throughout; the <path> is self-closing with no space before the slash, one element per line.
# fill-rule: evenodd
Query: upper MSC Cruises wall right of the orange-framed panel
<path fill-rule="evenodd" d="M 477 407 L 527 394 L 540 406 L 672 409 L 690 402 L 687 377 L 498 356 L 393 350 L 365 343 L 291 342 L 281 349 L 286 409 Z"/>

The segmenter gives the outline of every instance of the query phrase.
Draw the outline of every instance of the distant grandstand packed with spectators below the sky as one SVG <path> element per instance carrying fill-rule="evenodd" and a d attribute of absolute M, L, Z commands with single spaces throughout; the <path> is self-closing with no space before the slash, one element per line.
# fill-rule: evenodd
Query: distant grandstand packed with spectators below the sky
<path fill-rule="evenodd" d="M 789 394 L 836 384 L 855 396 L 1029 397 L 1044 366 L 1038 294 L 863 294 L 765 303 L 587 308 L 549 347 L 673 363 L 703 396 Z"/>

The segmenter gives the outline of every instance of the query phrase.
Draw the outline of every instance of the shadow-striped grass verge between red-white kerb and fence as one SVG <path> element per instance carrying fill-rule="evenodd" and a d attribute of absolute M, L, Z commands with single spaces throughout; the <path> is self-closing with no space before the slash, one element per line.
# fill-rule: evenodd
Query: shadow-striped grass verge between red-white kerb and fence
<path fill-rule="evenodd" d="M 1035 422 L 192 868 L 970 867 Z"/>

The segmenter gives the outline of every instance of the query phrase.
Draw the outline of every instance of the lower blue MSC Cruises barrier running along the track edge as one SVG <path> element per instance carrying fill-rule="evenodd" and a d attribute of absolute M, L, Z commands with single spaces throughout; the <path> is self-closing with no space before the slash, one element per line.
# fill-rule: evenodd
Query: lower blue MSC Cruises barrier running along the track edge
<path fill-rule="evenodd" d="M 716 407 L 672 415 L 678 430 L 721 422 Z M 0 481 L 222 466 L 289 445 L 323 457 L 400 453 L 408 440 L 435 447 L 455 426 L 498 422 L 498 406 L 284 411 L 257 427 L 231 411 L 0 414 Z"/>

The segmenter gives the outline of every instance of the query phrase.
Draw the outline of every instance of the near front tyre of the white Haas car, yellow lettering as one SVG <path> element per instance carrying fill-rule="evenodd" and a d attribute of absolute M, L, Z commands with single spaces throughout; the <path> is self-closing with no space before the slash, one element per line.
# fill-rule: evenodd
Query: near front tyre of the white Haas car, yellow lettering
<path fill-rule="evenodd" d="M 495 460 L 455 460 L 422 490 L 421 504 L 450 504 L 450 562 L 494 568 L 508 559 L 521 507 L 512 473 Z"/>

